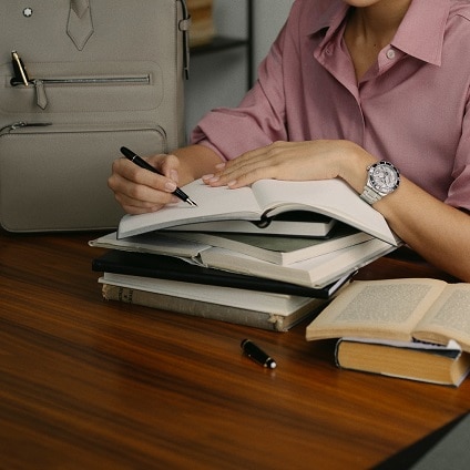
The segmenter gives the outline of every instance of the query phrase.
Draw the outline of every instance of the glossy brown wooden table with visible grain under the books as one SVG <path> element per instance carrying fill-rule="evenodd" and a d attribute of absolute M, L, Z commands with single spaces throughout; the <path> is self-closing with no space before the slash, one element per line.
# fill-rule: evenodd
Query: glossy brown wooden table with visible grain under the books
<path fill-rule="evenodd" d="M 96 234 L 0 232 L 0 467 L 365 469 L 470 409 L 460 388 L 339 370 L 330 341 L 102 300 Z M 442 277 L 387 257 L 361 278 Z M 276 359 L 243 356 L 249 337 Z"/>

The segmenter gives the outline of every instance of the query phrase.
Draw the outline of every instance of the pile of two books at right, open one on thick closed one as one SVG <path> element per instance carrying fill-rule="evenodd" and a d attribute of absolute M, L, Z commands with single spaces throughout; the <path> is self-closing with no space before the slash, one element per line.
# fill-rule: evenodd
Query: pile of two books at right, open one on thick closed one
<path fill-rule="evenodd" d="M 459 386 L 470 371 L 470 284 L 406 278 L 355 280 L 307 327 L 338 338 L 345 369 Z"/>

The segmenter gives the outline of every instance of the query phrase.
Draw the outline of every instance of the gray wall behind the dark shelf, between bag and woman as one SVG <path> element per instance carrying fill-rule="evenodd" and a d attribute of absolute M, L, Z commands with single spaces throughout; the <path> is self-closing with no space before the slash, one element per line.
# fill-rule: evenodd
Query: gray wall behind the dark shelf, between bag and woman
<path fill-rule="evenodd" d="M 294 0 L 255 0 L 254 65 L 266 55 L 284 24 Z M 231 37 L 246 37 L 245 0 L 214 0 L 217 31 Z M 186 129 L 211 109 L 235 106 L 246 92 L 246 49 L 191 58 L 191 79 L 185 88 Z"/>

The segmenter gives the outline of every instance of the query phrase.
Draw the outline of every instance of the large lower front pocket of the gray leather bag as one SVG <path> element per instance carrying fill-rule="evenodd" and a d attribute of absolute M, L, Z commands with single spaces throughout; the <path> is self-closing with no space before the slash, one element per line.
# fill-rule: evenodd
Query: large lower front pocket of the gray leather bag
<path fill-rule="evenodd" d="M 108 177 L 123 145 L 141 155 L 167 151 L 160 127 L 6 127 L 0 134 L 1 225 L 11 232 L 115 228 L 123 211 Z"/>

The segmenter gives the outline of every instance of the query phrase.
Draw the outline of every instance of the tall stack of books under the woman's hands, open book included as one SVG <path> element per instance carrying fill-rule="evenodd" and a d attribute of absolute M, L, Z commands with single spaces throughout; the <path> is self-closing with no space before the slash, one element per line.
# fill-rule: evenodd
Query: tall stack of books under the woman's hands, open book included
<path fill-rule="evenodd" d="M 285 331 L 400 245 L 340 180 L 183 190 L 197 206 L 125 215 L 90 242 L 109 248 L 93 260 L 106 299 Z"/>

